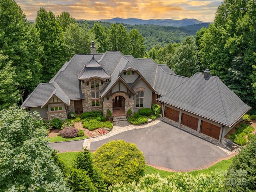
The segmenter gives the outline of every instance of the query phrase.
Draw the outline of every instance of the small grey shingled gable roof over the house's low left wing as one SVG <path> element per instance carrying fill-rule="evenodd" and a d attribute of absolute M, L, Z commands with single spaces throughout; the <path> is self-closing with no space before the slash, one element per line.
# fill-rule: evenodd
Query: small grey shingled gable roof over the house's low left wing
<path fill-rule="evenodd" d="M 58 97 L 64 104 L 69 105 L 70 99 L 60 89 L 57 83 L 40 83 L 35 90 L 21 105 L 22 108 L 44 107 L 48 104 L 52 96 Z"/>

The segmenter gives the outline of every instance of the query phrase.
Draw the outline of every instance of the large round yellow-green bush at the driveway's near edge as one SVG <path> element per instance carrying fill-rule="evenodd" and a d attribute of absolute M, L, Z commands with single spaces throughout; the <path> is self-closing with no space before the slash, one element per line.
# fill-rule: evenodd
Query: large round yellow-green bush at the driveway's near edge
<path fill-rule="evenodd" d="M 145 170 L 145 159 L 137 146 L 123 140 L 100 146 L 93 156 L 94 166 L 108 184 L 138 181 Z"/>

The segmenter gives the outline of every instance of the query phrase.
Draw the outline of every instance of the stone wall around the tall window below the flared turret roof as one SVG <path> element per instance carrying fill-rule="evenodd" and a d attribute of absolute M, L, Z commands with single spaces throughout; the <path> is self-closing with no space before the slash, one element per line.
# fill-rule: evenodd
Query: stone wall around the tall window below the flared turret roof
<path fill-rule="evenodd" d="M 97 80 L 97 79 L 94 79 Z M 101 84 L 101 80 L 99 82 L 99 90 L 101 91 L 108 82 L 103 82 Z M 83 112 L 90 112 L 90 111 L 102 111 L 103 109 L 103 98 L 100 98 L 100 106 L 99 107 L 92 107 L 92 94 L 91 94 L 91 82 L 87 85 L 86 82 L 82 82 L 82 94 L 84 94 L 83 102 Z"/>

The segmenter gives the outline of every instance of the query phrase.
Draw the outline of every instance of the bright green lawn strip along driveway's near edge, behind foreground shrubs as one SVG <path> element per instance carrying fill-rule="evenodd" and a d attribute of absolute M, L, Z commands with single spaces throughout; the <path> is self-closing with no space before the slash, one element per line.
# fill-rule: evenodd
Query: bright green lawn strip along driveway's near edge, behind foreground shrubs
<path fill-rule="evenodd" d="M 60 154 L 58 154 L 58 156 L 60 157 L 60 160 L 62 160 L 67 166 L 72 166 L 72 160 L 76 157 L 76 154 L 78 154 L 78 152 L 66 152 L 66 153 L 60 153 Z M 188 174 L 192 174 L 193 176 L 196 176 L 201 173 L 212 174 L 212 172 L 213 172 L 213 174 L 215 174 L 216 172 L 218 172 L 219 174 L 224 176 L 224 174 L 223 174 L 224 171 L 226 171 L 228 169 L 228 167 L 231 163 L 232 163 L 232 158 L 230 158 L 229 160 L 222 160 L 222 161 L 216 163 L 215 165 L 211 166 L 208 169 L 191 171 L 191 172 L 188 172 Z M 176 172 L 168 172 L 168 171 L 164 171 L 164 170 L 158 170 L 151 166 L 146 166 L 144 175 L 154 174 L 154 173 L 158 173 L 162 178 L 164 178 L 168 175 L 171 175 L 171 174 L 176 174 Z"/>

